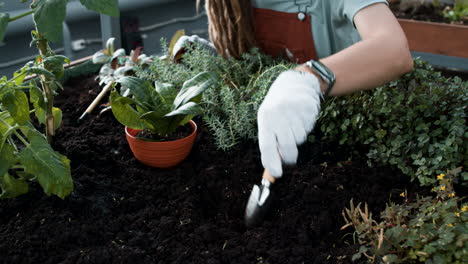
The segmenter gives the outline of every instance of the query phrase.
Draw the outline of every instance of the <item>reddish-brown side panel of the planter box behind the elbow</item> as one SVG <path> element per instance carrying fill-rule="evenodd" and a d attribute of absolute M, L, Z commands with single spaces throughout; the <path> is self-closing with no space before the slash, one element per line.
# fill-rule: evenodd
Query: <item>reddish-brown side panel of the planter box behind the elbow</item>
<path fill-rule="evenodd" d="M 410 50 L 468 58 L 468 26 L 398 19 Z"/>

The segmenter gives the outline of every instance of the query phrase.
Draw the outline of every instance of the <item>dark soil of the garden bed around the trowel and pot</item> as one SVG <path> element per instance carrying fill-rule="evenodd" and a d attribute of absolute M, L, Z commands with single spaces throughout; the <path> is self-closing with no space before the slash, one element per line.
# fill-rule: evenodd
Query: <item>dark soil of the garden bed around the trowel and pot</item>
<path fill-rule="evenodd" d="M 353 231 L 340 231 L 349 201 L 377 213 L 404 189 L 414 193 L 391 168 L 307 144 L 277 183 L 272 213 L 248 229 L 245 204 L 263 171 L 256 144 L 222 152 L 198 122 L 180 166 L 146 167 L 111 112 L 76 122 L 98 92 L 94 77 L 80 77 L 57 98 L 64 120 L 54 148 L 71 160 L 75 190 L 61 200 L 34 184 L 0 200 L 0 263 L 351 263 Z"/>

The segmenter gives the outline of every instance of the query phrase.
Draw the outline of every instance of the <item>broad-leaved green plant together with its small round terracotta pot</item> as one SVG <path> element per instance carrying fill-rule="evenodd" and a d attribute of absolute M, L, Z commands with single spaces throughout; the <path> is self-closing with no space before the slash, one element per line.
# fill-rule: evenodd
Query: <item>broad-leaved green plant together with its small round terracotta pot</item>
<path fill-rule="evenodd" d="M 117 82 L 130 90 L 131 97 L 111 92 L 115 118 L 125 126 L 127 141 L 142 163 L 159 168 L 184 160 L 195 140 L 197 125 L 192 118 L 202 113 L 202 93 L 216 76 L 202 72 L 184 82 L 180 89 L 170 83 L 127 76 Z"/>

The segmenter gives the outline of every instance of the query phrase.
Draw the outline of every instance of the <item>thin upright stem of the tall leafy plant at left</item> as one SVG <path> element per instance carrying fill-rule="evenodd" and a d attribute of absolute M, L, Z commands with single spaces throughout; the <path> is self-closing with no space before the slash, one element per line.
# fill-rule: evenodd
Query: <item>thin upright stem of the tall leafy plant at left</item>
<path fill-rule="evenodd" d="M 47 39 L 44 38 L 42 34 L 39 33 L 39 39 L 37 40 L 37 49 L 39 50 L 39 54 L 45 58 L 47 57 L 48 51 L 49 51 L 49 43 L 47 42 Z M 48 69 L 46 66 L 44 66 L 46 70 Z M 41 84 L 42 88 L 44 90 L 44 99 L 47 103 L 46 106 L 46 117 L 45 117 L 45 126 L 46 126 L 46 136 L 47 136 L 47 142 L 49 144 L 52 143 L 52 139 L 55 135 L 55 130 L 54 130 L 54 115 L 52 112 L 52 108 L 54 106 L 54 93 L 50 87 L 50 82 L 51 79 L 45 75 L 41 75 Z"/>

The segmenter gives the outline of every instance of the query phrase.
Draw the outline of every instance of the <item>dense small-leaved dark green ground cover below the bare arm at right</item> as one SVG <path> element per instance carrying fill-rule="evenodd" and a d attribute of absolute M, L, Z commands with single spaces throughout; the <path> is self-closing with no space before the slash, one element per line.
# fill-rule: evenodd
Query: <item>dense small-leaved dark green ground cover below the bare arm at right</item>
<path fill-rule="evenodd" d="M 319 128 L 322 140 L 368 146 L 369 165 L 394 165 L 429 185 L 441 168 L 468 166 L 467 106 L 468 82 L 416 60 L 397 81 L 326 101 Z M 468 183 L 466 172 L 460 178 Z"/>

